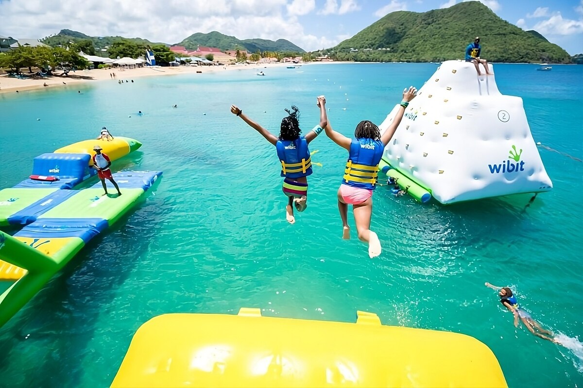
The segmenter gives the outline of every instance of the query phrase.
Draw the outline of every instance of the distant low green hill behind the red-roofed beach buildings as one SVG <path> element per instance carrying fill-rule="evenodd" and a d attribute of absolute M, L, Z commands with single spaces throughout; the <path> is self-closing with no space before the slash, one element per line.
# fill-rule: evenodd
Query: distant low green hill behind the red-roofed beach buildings
<path fill-rule="evenodd" d="M 208 34 L 196 33 L 176 44 L 184 46 L 189 50 L 195 50 L 199 46 L 216 47 L 222 50 L 247 49 L 249 52 L 264 51 L 291 51 L 305 52 L 292 42 L 285 39 L 278 39 L 275 42 L 266 39 L 245 39 L 238 40 L 236 37 L 212 31 Z"/>

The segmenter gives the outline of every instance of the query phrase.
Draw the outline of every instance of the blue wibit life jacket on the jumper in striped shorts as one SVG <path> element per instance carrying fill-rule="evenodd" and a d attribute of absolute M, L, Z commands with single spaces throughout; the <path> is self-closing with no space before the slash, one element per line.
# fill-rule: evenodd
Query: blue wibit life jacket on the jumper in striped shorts
<path fill-rule="evenodd" d="M 312 175 L 312 159 L 305 137 L 300 136 L 296 140 L 278 140 L 275 148 L 278 150 L 278 158 L 282 163 L 281 176 L 300 178 Z"/>

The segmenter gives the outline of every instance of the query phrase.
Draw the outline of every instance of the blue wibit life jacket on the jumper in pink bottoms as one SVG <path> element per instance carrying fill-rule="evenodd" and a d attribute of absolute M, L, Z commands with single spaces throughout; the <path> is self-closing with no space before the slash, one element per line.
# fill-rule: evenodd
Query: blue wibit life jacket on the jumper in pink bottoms
<path fill-rule="evenodd" d="M 342 183 L 374 190 L 377 184 L 378 163 L 385 147 L 380 140 L 353 138 Z"/>

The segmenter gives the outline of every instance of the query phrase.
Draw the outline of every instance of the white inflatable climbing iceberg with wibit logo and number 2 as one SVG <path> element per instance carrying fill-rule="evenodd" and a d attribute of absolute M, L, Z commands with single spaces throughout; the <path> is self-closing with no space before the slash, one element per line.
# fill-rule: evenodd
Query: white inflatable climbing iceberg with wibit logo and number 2
<path fill-rule="evenodd" d="M 398 109 L 379 126 L 381 133 Z M 494 75 L 478 76 L 472 63 L 459 60 L 443 62 L 420 88 L 383 161 L 388 175 L 405 177 L 398 181 L 402 187 L 410 180 L 442 204 L 553 187 L 522 98 L 501 94 Z"/>

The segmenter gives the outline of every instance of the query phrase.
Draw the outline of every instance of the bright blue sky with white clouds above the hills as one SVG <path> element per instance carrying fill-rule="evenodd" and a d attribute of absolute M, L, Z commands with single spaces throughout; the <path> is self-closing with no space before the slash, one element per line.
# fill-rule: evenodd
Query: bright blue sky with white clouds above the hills
<path fill-rule="evenodd" d="M 284 38 L 312 51 L 352 37 L 395 10 L 425 12 L 462 0 L 0 0 L 0 35 L 43 38 L 61 29 L 176 43 L 197 32 Z M 571 54 L 583 52 L 583 0 L 480 0 Z M 476 32 L 468 30 L 468 37 Z M 487 42 L 484 42 L 487 48 Z"/>

